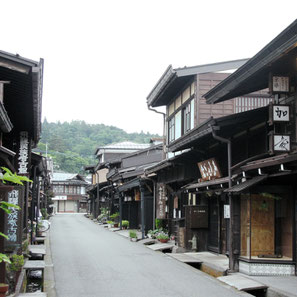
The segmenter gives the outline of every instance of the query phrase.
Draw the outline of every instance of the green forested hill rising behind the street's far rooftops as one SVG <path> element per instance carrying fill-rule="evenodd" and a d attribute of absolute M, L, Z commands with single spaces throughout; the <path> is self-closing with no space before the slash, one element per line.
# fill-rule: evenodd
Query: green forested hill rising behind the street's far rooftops
<path fill-rule="evenodd" d="M 103 124 L 87 124 L 84 121 L 71 123 L 42 123 L 41 140 L 36 151 L 54 160 L 55 169 L 70 173 L 84 173 L 83 167 L 95 164 L 94 153 L 98 146 L 121 141 L 148 143 L 159 135 L 149 133 L 127 133 L 124 130 Z"/>

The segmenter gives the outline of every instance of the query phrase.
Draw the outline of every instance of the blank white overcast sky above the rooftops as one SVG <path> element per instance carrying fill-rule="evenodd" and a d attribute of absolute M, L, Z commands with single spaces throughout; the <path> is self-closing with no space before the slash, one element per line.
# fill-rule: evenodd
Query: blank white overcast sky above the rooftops
<path fill-rule="evenodd" d="M 146 97 L 174 68 L 249 58 L 296 0 L 1 1 L 1 50 L 44 59 L 42 116 L 162 133 Z"/>

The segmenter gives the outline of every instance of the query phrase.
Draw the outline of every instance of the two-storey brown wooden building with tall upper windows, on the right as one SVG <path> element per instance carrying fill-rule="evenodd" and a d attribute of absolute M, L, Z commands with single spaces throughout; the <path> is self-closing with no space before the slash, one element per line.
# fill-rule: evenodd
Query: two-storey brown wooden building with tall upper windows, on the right
<path fill-rule="evenodd" d="M 227 252 L 228 229 L 224 228 L 224 236 L 220 238 L 223 241 L 220 250 L 218 244 L 214 243 L 216 239 L 213 243 L 209 241 L 211 237 L 208 236 L 205 224 L 203 228 L 190 227 L 199 226 L 199 222 L 196 222 L 197 219 L 192 218 L 191 214 L 194 215 L 200 210 L 195 210 L 198 204 L 196 196 L 185 193 L 187 190 L 184 187 L 193 181 L 197 182 L 201 177 L 197 163 L 207 160 L 209 148 L 207 145 L 203 148 L 175 148 L 195 139 L 197 131 L 205 133 L 204 127 L 209 131 L 209 118 L 214 120 L 269 104 L 271 98 L 265 90 L 242 94 L 218 105 L 208 105 L 203 98 L 207 91 L 230 75 L 222 72 L 237 69 L 247 61 L 245 59 L 178 69 L 169 66 L 147 97 L 149 108 L 166 106 L 167 156 L 161 163 L 146 170 L 147 174 L 156 175 L 156 216 L 164 220 L 170 233 L 177 238 L 178 245 L 187 250 L 192 248 L 189 240 L 196 235 L 198 250 Z M 224 150 L 220 150 L 219 154 L 225 159 Z M 208 200 L 205 199 L 207 212 L 205 206 L 201 206 L 200 214 L 205 213 L 208 221 Z M 219 219 L 214 216 L 212 218 L 216 223 L 210 222 L 210 225 L 216 228 Z"/>

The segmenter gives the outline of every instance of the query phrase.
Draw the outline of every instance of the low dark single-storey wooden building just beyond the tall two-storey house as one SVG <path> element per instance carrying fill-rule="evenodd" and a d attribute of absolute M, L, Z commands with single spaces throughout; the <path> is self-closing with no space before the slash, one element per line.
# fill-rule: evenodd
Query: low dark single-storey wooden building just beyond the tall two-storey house
<path fill-rule="evenodd" d="M 140 228 L 142 236 L 155 222 L 155 181 L 144 177 L 147 168 L 162 160 L 163 145 L 152 145 L 121 158 L 121 166 L 109 179 L 119 194 L 120 222 L 128 220 L 130 228 Z"/>

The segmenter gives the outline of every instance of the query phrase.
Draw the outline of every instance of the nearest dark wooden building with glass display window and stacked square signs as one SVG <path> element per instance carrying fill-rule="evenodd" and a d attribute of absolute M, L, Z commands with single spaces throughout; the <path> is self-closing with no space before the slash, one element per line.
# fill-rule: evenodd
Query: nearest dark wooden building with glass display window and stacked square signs
<path fill-rule="evenodd" d="M 273 96 L 261 123 L 222 135 L 230 175 L 241 177 L 227 190 L 230 267 L 248 274 L 296 274 L 296 44 L 297 21 L 205 94 L 213 104 L 264 88 Z"/>

